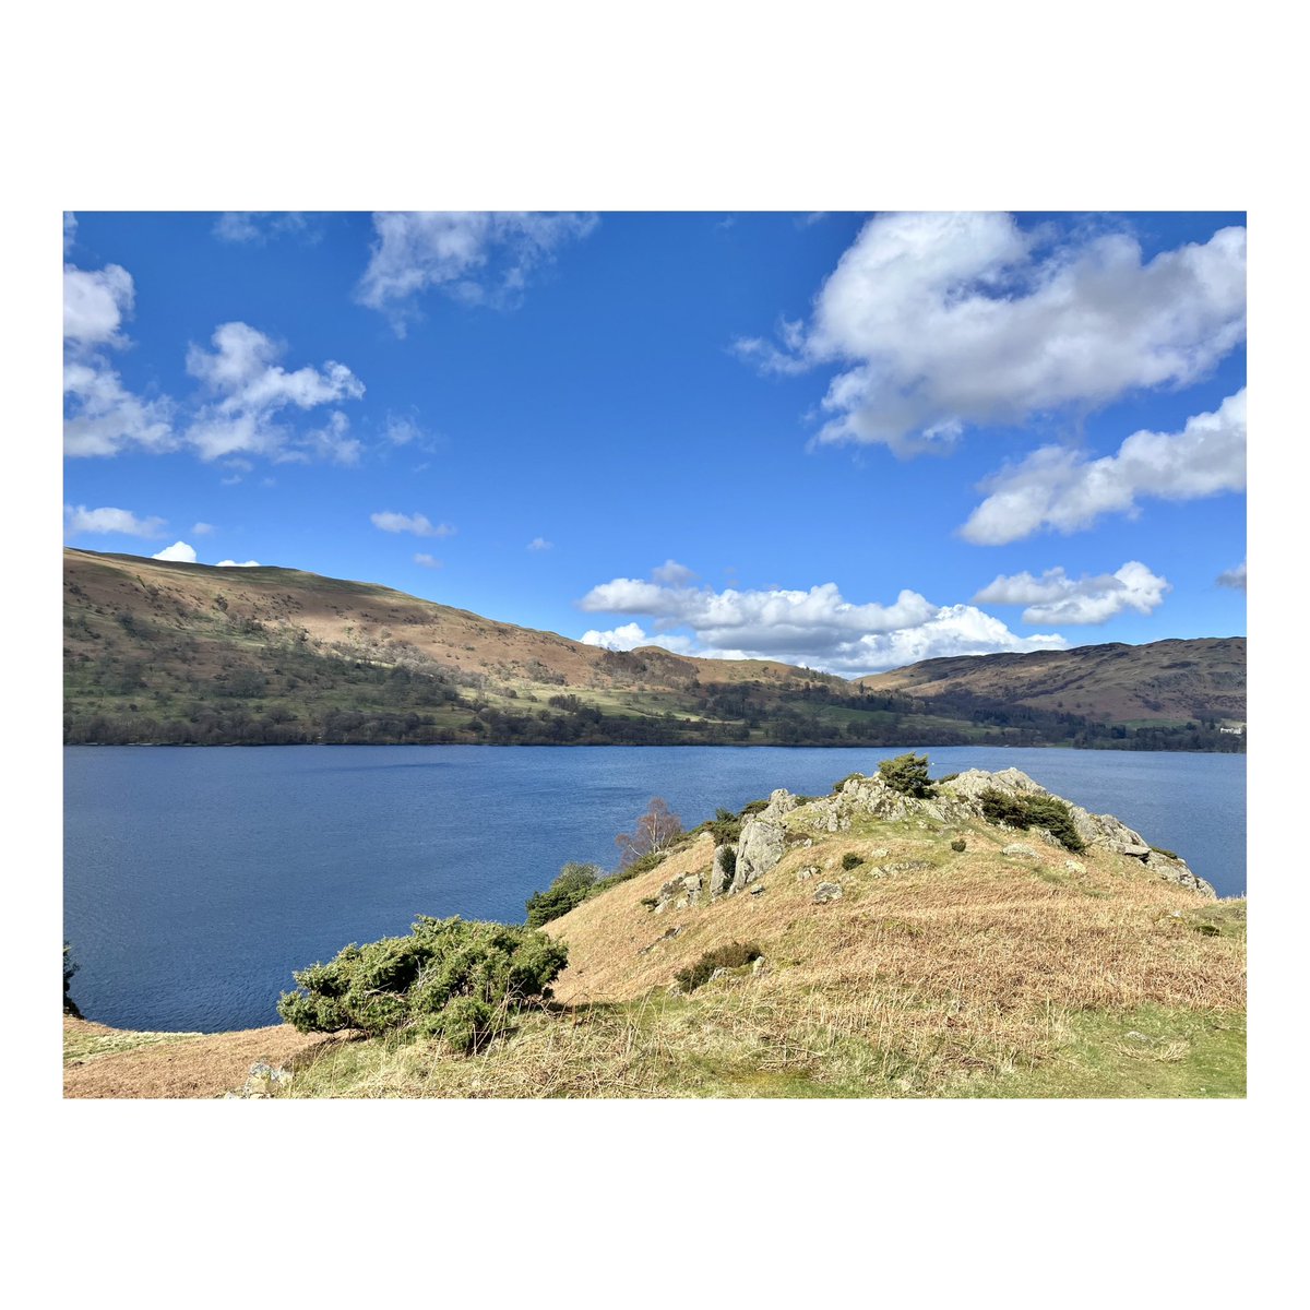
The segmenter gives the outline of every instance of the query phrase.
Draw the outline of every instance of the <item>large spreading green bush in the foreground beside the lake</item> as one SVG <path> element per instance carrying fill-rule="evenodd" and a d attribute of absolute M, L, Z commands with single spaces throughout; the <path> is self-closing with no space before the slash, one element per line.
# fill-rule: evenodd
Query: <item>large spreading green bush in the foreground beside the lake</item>
<path fill-rule="evenodd" d="M 549 997 L 567 962 L 562 942 L 533 929 L 421 914 L 407 937 L 352 943 L 295 972 L 278 1014 L 300 1032 L 406 1031 L 469 1052 L 498 1013 Z"/>

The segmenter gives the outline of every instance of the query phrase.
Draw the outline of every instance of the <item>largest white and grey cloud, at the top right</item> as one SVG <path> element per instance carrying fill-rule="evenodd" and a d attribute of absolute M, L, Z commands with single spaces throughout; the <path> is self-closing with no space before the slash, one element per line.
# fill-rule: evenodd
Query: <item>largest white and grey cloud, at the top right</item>
<path fill-rule="evenodd" d="M 765 371 L 834 364 L 821 443 L 900 455 L 967 427 L 1204 376 L 1246 333 L 1246 229 L 1145 261 L 1125 232 L 1051 244 L 1006 214 L 871 219 L 778 341 L 741 339 Z"/>

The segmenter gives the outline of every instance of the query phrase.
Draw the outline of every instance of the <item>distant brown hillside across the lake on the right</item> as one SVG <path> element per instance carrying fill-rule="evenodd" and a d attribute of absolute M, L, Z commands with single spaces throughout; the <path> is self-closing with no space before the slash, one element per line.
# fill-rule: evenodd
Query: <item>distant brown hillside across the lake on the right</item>
<path fill-rule="evenodd" d="M 1103 723 L 1246 722 L 1246 638 L 931 659 L 858 680 L 935 705 L 1011 701 Z"/>

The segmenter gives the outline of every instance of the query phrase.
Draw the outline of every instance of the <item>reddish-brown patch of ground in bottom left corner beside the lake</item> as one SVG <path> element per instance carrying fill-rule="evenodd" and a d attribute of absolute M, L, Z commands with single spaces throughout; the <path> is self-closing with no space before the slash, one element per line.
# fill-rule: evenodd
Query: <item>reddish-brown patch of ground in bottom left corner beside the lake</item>
<path fill-rule="evenodd" d="M 122 1043 L 144 1040 L 126 1051 L 106 1049 L 114 1028 L 64 1019 L 67 1047 L 83 1048 L 96 1039 L 98 1053 L 73 1055 L 64 1064 L 66 1098 L 208 1098 L 238 1089 L 250 1065 L 265 1061 L 295 1068 L 305 1057 L 341 1038 L 301 1034 L 288 1024 L 241 1032 L 118 1034 Z M 160 1038 L 174 1040 L 149 1040 Z"/>

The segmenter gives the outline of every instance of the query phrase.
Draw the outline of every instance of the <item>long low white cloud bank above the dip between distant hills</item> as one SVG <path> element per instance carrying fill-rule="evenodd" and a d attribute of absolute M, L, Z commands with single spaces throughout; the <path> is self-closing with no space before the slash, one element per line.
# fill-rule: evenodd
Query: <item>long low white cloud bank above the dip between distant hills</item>
<path fill-rule="evenodd" d="M 889 605 L 853 604 L 836 583 L 808 591 L 714 591 L 685 582 L 614 578 L 593 587 L 579 607 L 654 620 L 655 635 L 633 622 L 591 630 L 583 637 L 590 645 L 626 650 L 659 641 L 680 654 L 779 659 L 833 672 L 872 672 L 930 655 L 1066 645 L 1057 634 L 1018 637 L 972 605 L 941 607 L 913 591 L 901 591 Z M 692 635 L 673 629 L 688 629 Z"/>

